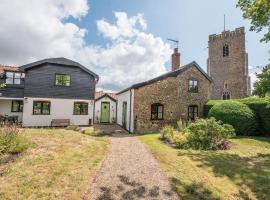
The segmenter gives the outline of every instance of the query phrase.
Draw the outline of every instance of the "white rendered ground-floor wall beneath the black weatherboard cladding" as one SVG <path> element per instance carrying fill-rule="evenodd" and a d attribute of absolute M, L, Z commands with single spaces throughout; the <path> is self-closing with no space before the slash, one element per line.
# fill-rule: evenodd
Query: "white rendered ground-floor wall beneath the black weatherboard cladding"
<path fill-rule="evenodd" d="M 33 115 L 33 101 L 50 101 L 50 115 Z M 88 115 L 73 115 L 74 102 L 88 102 Z M 50 126 L 52 119 L 70 119 L 72 125 L 89 125 L 93 122 L 93 100 L 31 98 L 24 99 L 23 126 Z"/>

